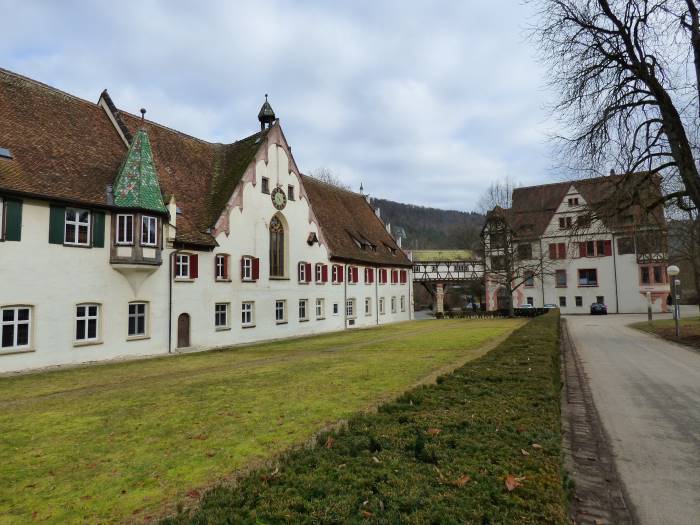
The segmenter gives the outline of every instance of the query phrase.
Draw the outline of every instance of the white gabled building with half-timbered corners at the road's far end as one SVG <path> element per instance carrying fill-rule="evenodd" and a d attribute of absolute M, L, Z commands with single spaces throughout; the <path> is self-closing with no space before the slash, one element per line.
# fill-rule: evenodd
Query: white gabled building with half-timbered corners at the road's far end
<path fill-rule="evenodd" d="M 665 221 L 633 194 L 658 196 L 658 187 L 635 174 L 516 188 L 512 207 L 492 210 L 483 231 L 487 308 L 507 308 L 503 279 L 515 273 L 515 306 L 587 314 L 604 303 L 609 313 L 642 313 L 650 299 L 666 311 Z"/>

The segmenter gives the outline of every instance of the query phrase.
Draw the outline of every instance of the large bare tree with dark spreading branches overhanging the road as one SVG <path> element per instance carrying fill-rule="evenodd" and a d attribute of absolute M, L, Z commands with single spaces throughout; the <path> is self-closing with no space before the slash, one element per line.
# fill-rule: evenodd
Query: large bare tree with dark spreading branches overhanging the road
<path fill-rule="evenodd" d="M 647 208 L 699 208 L 697 0 L 531 2 L 532 35 L 560 93 L 553 110 L 571 133 L 558 137 L 562 158 L 658 176 L 663 195 Z"/>

